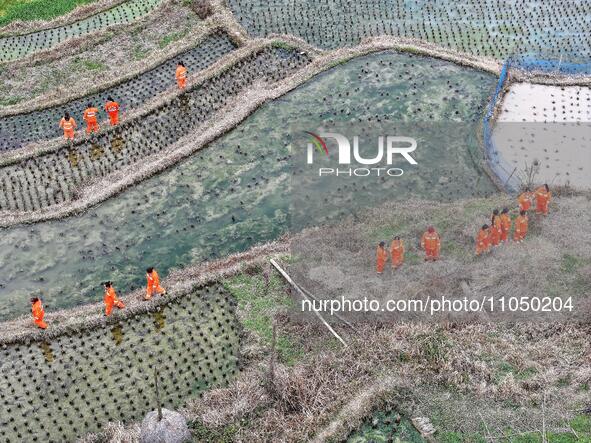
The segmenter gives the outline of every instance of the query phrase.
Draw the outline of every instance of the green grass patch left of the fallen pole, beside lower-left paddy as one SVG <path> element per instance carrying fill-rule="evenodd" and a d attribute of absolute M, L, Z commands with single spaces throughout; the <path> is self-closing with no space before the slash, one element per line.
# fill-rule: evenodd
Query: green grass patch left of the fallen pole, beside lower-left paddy
<path fill-rule="evenodd" d="M 283 279 L 272 273 L 268 286 L 262 272 L 254 275 L 239 274 L 225 282 L 225 286 L 238 301 L 243 313 L 242 324 L 245 329 L 261 337 L 267 346 L 273 337 L 273 316 L 294 304 L 285 292 Z M 282 363 L 293 365 L 303 351 L 294 337 L 278 333 L 276 337 L 277 357 Z"/>

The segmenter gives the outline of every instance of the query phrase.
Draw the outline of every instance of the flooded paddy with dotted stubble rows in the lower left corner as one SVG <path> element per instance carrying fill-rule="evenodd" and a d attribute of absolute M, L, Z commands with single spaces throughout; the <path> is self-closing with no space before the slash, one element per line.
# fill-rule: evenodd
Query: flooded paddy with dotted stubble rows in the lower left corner
<path fill-rule="evenodd" d="M 196 315 L 198 313 L 198 315 Z M 0 348 L 0 440 L 67 442 L 169 409 L 236 372 L 239 324 L 214 284 L 151 313 Z"/>

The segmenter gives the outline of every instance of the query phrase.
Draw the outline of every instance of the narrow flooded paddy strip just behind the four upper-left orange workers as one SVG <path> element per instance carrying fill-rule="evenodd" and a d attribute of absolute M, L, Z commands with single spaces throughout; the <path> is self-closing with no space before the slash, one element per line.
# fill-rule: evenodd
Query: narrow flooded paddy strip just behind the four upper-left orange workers
<path fill-rule="evenodd" d="M 235 48 L 236 46 L 225 33 L 218 32 L 208 36 L 200 44 L 179 54 L 174 59 L 103 91 L 63 105 L 26 114 L 0 117 L 0 151 L 20 148 L 30 142 L 60 137 L 63 131 L 58 127 L 58 122 L 66 111 L 80 125 L 79 134 L 83 134 L 82 114 L 88 103 L 93 103 L 99 108 L 105 120 L 106 114 L 102 108 L 109 96 L 120 103 L 121 112 L 129 112 L 176 85 L 174 71 L 177 60 L 183 60 L 189 72 L 196 73 Z"/>

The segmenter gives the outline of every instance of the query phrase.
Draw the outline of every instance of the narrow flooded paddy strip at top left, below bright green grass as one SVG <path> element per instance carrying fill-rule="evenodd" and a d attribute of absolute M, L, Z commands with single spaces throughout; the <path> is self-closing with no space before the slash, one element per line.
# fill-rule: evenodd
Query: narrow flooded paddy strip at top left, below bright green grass
<path fill-rule="evenodd" d="M 0 36 L 0 62 L 52 49 L 66 40 L 123 25 L 144 17 L 164 0 L 128 0 L 73 23 L 22 35 Z"/>

